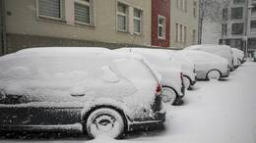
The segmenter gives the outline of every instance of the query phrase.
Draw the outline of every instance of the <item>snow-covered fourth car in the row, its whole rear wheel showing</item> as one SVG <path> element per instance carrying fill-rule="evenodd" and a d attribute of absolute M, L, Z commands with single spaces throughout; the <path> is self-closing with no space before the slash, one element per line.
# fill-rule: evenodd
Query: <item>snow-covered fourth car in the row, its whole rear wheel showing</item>
<path fill-rule="evenodd" d="M 198 79 L 221 79 L 229 75 L 228 63 L 220 56 L 195 50 L 181 50 L 179 53 L 195 64 Z"/>

